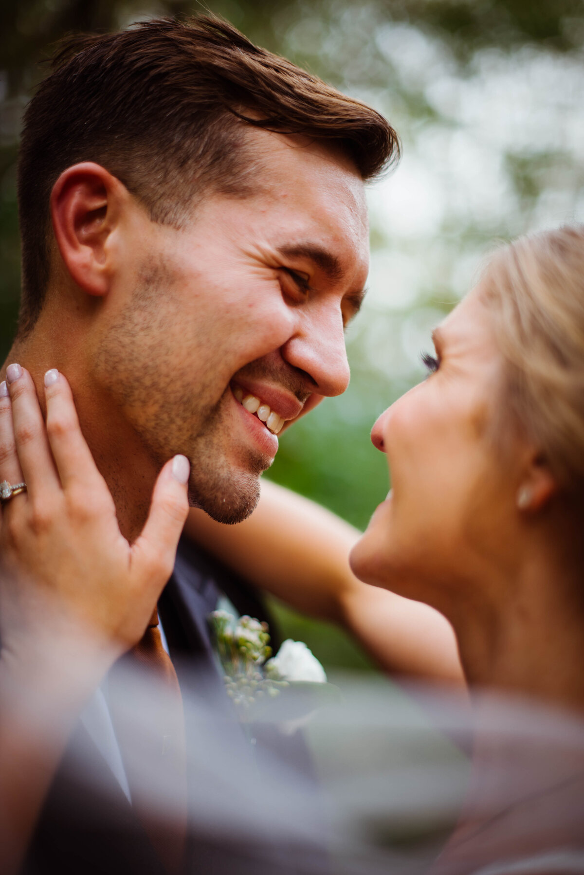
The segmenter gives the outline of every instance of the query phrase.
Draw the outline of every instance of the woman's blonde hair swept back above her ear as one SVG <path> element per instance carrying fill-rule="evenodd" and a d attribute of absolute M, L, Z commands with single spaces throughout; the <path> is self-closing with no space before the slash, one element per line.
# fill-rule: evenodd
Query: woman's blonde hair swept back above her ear
<path fill-rule="evenodd" d="M 584 225 L 520 237 L 493 256 L 485 300 L 511 409 L 564 486 L 584 485 Z"/>

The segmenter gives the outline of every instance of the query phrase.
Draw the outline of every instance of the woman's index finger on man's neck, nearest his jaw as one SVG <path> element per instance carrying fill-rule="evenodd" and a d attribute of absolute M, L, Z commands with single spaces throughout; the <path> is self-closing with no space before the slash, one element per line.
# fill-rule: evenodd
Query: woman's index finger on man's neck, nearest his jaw
<path fill-rule="evenodd" d="M 45 374 L 46 430 L 63 488 L 77 484 L 92 489 L 103 486 L 79 417 L 67 378 L 52 368 Z"/>

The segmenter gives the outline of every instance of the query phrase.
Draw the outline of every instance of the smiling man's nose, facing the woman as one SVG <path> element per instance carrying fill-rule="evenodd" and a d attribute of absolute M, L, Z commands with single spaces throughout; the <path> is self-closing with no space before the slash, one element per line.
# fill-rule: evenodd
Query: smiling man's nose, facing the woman
<path fill-rule="evenodd" d="M 282 355 L 292 367 L 305 371 L 318 395 L 342 395 L 350 377 L 345 333 L 339 312 L 302 318 L 299 330 L 286 341 Z"/>

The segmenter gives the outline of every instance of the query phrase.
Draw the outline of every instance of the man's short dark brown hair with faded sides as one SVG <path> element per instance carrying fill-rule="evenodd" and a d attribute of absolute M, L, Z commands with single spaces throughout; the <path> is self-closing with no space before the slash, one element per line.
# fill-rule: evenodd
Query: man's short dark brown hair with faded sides
<path fill-rule="evenodd" d="M 49 200 L 60 173 L 94 161 L 152 221 L 179 227 L 196 195 L 250 192 L 248 124 L 327 141 L 365 181 L 399 154 L 395 131 L 374 109 L 258 48 L 222 18 L 155 18 L 65 38 L 25 113 L 19 334 L 32 329 L 46 296 Z"/>

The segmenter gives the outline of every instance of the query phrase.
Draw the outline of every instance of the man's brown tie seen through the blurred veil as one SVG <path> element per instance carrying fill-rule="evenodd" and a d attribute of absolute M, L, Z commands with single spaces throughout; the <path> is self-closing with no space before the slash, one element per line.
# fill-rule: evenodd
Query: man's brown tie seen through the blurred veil
<path fill-rule="evenodd" d="M 128 671 L 132 668 L 141 669 L 158 682 L 164 695 L 162 704 L 154 696 L 145 708 L 139 708 L 140 729 L 144 732 L 136 732 L 136 722 L 128 720 L 128 697 L 132 694 Z M 162 644 L 156 610 L 141 641 L 109 672 L 108 699 L 132 808 L 158 857 L 174 875 L 182 868 L 186 845 L 185 717 L 179 679 Z M 152 767 L 154 793 L 159 784 L 163 788 L 160 795 L 171 797 L 172 816 L 168 819 L 159 814 L 165 807 L 164 798 L 153 800 L 152 785 L 148 782 L 144 788 L 144 763 Z"/>

